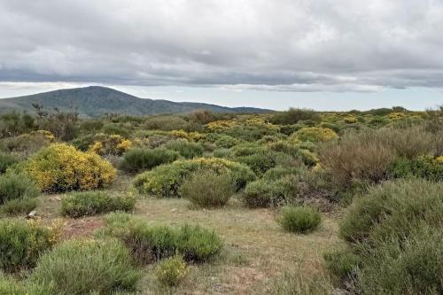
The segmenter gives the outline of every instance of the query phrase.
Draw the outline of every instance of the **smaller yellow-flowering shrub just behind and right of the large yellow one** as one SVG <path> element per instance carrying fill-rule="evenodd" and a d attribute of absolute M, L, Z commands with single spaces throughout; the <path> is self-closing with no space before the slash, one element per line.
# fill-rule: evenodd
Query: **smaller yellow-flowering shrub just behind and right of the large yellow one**
<path fill-rule="evenodd" d="M 89 151 L 102 156 L 109 154 L 121 156 L 124 152 L 128 151 L 132 145 L 132 142 L 123 136 L 105 136 L 104 134 L 98 134 L 97 140 L 89 146 Z"/>

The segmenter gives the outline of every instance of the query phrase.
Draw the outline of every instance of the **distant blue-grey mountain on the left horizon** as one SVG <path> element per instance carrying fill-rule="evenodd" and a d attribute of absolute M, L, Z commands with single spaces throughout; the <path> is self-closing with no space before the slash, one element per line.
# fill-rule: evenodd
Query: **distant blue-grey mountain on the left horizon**
<path fill-rule="evenodd" d="M 105 113 L 148 115 L 155 113 L 190 113 L 205 109 L 214 113 L 268 113 L 270 110 L 253 107 L 226 107 L 202 103 L 175 103 L 168 100 L 148 99 L 101 87 L 89 86 L 75 89 L 59 89 L 24 97 L 0 99 L 0 113 L 8 111 L 34 112 L 32 104 L 43 105 L 45 111 L 76 110 L 82 117 L 98 117 Z"/>

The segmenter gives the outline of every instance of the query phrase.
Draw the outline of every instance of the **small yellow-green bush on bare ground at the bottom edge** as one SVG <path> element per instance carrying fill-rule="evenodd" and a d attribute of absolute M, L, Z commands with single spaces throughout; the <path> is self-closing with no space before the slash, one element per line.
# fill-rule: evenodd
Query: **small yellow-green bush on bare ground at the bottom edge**
<path fill-rule="evenodd" d="M 159 283 L 168 287 L 181 283 L 187 272 L 186 263 L 179 255 L 161 260 L 155 268 L 155 276 Z"/>

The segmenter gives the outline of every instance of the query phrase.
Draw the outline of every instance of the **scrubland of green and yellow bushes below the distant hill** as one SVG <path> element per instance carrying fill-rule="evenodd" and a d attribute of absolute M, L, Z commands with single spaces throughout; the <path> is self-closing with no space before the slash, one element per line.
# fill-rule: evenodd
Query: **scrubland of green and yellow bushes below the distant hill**
<path fill-rule="evenodd" d="M 442 294 L 443 108 L 0 116 L 0 294 Z"/>

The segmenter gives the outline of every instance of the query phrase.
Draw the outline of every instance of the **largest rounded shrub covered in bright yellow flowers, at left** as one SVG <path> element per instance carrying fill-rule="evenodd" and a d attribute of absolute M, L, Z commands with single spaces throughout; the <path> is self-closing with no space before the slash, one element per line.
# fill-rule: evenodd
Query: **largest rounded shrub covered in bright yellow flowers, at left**
<path fill-rule="evenodd" d="M 51 144 L 27 160 L 26 170 L 41 190 L 94 190 L 113 182 L 116 171 L 93 152 L 68 144 Z"/>

